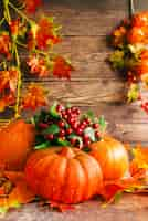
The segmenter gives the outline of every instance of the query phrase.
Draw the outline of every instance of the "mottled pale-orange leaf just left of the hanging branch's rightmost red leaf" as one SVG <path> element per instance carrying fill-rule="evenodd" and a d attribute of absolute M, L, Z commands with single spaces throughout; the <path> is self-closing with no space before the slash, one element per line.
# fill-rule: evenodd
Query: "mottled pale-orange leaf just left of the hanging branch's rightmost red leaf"
<path fill-rule="evenodd" d="M 49 75 L 47 64 L 43 57 L 32 55 L 28 61 L 28 65 L 30 67 L 31 74 L 38 75 L 39 77 L 44 77 Z"/>

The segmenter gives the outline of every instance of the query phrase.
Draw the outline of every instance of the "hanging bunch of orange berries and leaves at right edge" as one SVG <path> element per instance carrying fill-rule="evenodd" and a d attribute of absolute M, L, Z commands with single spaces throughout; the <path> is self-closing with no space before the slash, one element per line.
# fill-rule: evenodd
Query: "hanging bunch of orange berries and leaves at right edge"
<path fill-rule="evenodd" d="M 138 101 L 148 113 L 148 102 L 141 91 L 148 86 L 148 11 L 133 14 L 110 34 L 115 51 L 109 56 L 114 69 L 126 73 L 128 102 Z"/>

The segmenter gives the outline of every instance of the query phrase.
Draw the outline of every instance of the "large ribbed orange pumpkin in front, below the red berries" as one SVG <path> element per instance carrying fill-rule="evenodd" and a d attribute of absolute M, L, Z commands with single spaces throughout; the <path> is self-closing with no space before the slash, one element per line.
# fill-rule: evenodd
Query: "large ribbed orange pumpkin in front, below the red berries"
<path fill-rule="evenodd" d="M 103 187 L 97 161 L 68 147 L 36 150 L 27 162 L 25 178 L 36 194 L 63 203 L 85 201 Z"/>

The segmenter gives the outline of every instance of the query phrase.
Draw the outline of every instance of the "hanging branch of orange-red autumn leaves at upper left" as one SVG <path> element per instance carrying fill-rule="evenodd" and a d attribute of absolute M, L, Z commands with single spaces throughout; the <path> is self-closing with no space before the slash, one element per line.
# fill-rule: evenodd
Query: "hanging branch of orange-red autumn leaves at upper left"
<path fill-rule="evenodd" d="M 20 48 L 29 51 L 25 61 L 28 72 L 35 77 L 46 77 L 51 73 L 55 77 L 70 78 L 73 66 L 62 55 L 53 53 L 54 44 L 62 41 L 61 27 L 53 18 L 42 15 L 34 21 L 29 13 L 34 13 L 41 0 L 20 1 L 17 7 L 12 1 L 2 1 L 3 18 L 0 21 L 0 112 L 6 107 L 14 108 L 15 117 L 23 108 L 35 109 L 46 105 L 46 92 L 31 83 L 27 94 L 21 95 L 22 59 Z M 11 11 L 15 18 L 12 18 Z M 27 13 L 25 13 L 27 12 Z M 34 95 L 34 92 L 38 92 Z M 39 97 L 38 97 L 39 95 Z"/>

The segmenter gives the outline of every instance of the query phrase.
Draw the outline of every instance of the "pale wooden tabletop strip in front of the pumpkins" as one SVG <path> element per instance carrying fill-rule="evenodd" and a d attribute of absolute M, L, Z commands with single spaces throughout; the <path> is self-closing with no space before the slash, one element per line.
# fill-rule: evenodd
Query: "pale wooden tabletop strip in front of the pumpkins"
<path fill-rule="evenodd" d="M 0 221 L 147 221 L 147 196 L 126 194 L 117 204 L 103 208 L 101 200 L 93 200 L 64 213 L 30 203 Z"/>

